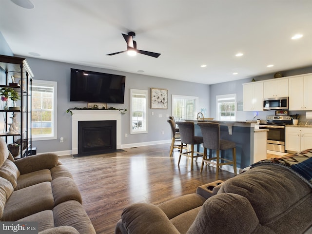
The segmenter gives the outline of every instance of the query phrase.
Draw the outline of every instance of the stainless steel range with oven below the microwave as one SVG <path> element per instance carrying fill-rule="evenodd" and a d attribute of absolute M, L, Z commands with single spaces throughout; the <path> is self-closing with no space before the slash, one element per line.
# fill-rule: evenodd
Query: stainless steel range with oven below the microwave
<path fill-rule="evenodd" d="M 285 125 L 292 125 L 290 116 L 267 116 L 267 122 L 260 124 L 260 129 L 268 129 L 267 149 L 285 152 Z"/>

